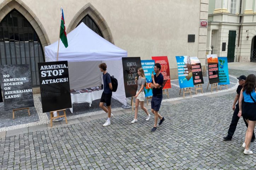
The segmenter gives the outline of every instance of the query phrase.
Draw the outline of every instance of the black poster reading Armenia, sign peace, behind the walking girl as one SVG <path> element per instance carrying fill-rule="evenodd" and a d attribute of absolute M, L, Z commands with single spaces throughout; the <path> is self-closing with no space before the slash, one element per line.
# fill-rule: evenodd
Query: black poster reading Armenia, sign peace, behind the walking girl
<path fill-rule="evenodd" d="M 123 81 L 126 97 L 133 97 L 137 92 L 135 77 L 139 78 L 137 72 L 141 67 L 140 57 L 122 57 Z"/>

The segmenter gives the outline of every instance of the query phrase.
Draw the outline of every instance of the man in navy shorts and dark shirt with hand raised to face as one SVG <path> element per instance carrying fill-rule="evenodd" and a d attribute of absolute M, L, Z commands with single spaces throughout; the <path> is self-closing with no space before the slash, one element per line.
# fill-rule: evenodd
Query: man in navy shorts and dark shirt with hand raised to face
<path fill-rule="evenodd" d="M 157 120 L 158 118 L 160 119 L 160 122 L 158 125 L 161 125 L 164 121 L 164 117 L 162 117 L 158 111 L 160 109 L 161 106 L 161 102 L 163 99 L 163 81 L 164 81 L 164 77 L 162 75 L 162 73 L 160 73 L 161 71 L 161 64 L 156 63 L 155 67 L 154 67 L 154 71 L 155 71 L 155 75 L 152 73 L 151 77 L 152 77 L 152 81 L 151 81 L 151 88 L 152 89 L 152 100 L 151 100 L 151 112 L 153 114 L 155 114 L 155 124 L 154 127 L 151 129 L 151 132 L 155 132 L 157 130 Z"/>

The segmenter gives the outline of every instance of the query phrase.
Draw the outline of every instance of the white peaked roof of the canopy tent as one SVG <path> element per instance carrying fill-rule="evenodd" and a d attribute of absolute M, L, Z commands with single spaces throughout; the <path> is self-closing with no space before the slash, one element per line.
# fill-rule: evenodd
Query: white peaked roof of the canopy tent
<path fill-rule="evenodd" d="M 58 61 L 107 61 L 120 60 L 127 51 L 100 37 L 83 22 L 67 34 L 68 47 L 60 40 Z M 46 62 L 56 61 L 58 41 L 45 47 Z"/>

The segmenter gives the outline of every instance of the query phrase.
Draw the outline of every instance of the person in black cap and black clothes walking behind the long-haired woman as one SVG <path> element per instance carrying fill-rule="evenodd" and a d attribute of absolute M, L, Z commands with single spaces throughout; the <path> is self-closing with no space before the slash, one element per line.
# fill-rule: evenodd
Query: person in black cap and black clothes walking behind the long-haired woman
<path fill-rule="evenodd" d="M 239 80 L 239 85 L 237 87 L 237 95 L 235 96 L 235 100 L 234 100 L 234 103 L 233 103 L 233 106 L 232 106 L 232 109 L 233 109 L 234 113 L 233 113 L 231 124 L 230 124 L 229 129 L 228 129 L 228 135 L 226 137 L 223 137 L 223 139 L 226 140 L 226 141 L 232 139 L 233 134 L 235 132 L 235 128 L 237 128 L 237 123 L 238 123 L 238 120 L 239 120 L 239 117 L 238 117 L 239 104 L 237 103 L 237 101 L 239 99 L 240 92 L 241 92 L 241 90 L 243 88 L 243 85 L 244 85 L 244 82 L 246 80 L 246 76 L 242 75 L 240 77 L 237 77 L 237 79 Z M 235 103 L 237 103 L 237 105 L 235 105 Z M 248 127 L 248 124 L 245 121 L 245 119 L 244 119 L 244 122 L 245 122 L 246 127 Z M 253 132 L 251 142 L 253 142 L 254 140 L 255 140 L 255 134 Z"/>

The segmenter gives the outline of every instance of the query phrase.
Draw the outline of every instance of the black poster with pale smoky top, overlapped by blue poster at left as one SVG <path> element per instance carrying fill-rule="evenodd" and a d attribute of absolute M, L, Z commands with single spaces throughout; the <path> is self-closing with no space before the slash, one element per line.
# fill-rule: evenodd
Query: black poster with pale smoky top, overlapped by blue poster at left
<path fill-rule="evenodd" d="M 204 84 L 202 66 L 197 57 L 190 57 L 191 65 L 192 65 L 192 73 L 193 73 L 193 83 Z"/>

